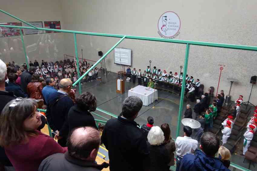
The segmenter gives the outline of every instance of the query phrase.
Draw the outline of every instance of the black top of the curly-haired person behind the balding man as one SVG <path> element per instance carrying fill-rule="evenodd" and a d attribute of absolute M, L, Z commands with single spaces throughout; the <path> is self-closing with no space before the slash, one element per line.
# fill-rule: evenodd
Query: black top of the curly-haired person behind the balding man
<path fill-rule="evenodd" d="M 60 132 L 60 136 L 62 137 L 62 135 L 64 135 L 65 137 L 73 128 L 81 126 L 90 126 L 97 129 L 94 117 L 91 113 L 74 105 L 70 108 L 68 118 L 65 121 L 64 129 Z"/>

